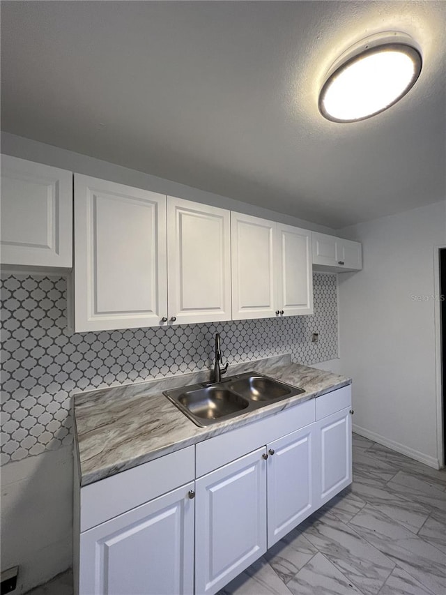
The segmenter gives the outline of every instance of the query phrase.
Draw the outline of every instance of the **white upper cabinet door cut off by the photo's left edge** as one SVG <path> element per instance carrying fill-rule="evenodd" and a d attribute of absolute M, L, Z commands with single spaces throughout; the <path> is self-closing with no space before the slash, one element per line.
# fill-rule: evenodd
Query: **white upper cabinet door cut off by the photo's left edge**
<path fill-rule="evenodd" d="M 72 267 L 72 172 L 1 156 L 1 262 Z"/>

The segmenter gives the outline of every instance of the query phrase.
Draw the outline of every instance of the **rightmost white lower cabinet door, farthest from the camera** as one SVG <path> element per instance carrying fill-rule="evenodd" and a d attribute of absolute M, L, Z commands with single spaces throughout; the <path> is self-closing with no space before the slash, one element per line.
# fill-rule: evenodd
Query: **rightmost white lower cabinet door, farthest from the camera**
<path fill-rule="evenodd" d="M 316 421 L 316 509 L 351 484 L 350 407 Z"/>

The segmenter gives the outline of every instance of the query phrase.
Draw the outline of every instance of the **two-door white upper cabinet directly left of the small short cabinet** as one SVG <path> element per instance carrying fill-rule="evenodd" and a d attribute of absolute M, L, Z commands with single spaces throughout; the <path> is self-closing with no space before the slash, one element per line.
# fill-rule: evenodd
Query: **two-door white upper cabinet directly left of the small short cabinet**
<path fill-rule="evenodd" d="M 231 212 L 232 317 L 312 314 L 311 232 Z"/>

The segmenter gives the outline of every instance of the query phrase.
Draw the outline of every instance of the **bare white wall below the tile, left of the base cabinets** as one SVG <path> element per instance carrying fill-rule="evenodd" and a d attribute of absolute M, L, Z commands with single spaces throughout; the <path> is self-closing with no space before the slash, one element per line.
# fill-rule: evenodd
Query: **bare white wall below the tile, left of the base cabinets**
<path fill-rule="evenodd" d="M 72 447 L 1 468 L 1 569 L 24 593 L 72 566 Z"/>

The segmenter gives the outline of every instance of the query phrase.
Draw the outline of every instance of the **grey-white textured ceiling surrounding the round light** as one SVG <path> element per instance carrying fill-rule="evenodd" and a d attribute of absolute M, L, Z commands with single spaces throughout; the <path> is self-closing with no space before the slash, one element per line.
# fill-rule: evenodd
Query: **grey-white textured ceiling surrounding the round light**
<path fill-rule="evenodd" d="M 331 63 L 387 30 L 415 87 L 323 119 Z M 344 227 L 445 198 L 445 54 L 443 1 L 2 1 L 1 128 Z"/>

